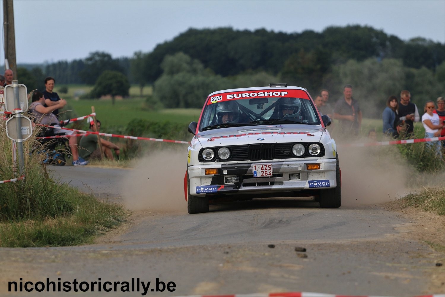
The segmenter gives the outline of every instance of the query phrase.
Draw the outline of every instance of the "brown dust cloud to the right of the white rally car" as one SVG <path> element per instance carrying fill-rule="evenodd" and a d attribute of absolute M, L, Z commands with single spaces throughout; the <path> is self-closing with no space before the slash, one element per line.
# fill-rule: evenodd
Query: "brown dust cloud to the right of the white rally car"
<path fill-rule="evenodd" d="M 408 166 L 382 147 L 338 147 L 342 206 L 394 201 L 408 194 Z"/>

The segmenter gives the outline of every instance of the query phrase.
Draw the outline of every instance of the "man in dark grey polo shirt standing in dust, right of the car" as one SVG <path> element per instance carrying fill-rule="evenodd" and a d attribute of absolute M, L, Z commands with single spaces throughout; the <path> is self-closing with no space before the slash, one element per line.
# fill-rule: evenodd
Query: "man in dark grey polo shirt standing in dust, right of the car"
<path fill-rule="evenodd" d="M 352 85 L 343 87 L 343 98 L 334 106 L 334 118 L 340 120 L 340 129 L 345 135 L 358 135 L 361 127 L 362 112 L 359 102 L 352 98 Z"/>

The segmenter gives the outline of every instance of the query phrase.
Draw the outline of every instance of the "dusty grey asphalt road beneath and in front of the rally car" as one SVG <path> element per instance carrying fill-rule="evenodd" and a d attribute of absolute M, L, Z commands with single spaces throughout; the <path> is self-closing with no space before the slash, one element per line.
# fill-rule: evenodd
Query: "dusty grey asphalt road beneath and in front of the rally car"
<path fill-rule="evenodd" d="M 50 169 L 73 187 L 112 203 L 124 201 L 121 179 L 131 171 L 91 166 Z M 146 296 L 432 293 L 428 288 L 437 255 L 410 237 L 411 224 L 409 218 L 381 204 L 320 209 L 312 201 L 292 199 L 227 203 L 196 215 L 188 215 L 186 208 L 177 212 L 140 210 L 134 212 L 125 230 L 106 235 L 98 244 L 1 249 L 4 275 L 0 284 L 18 277 L 29 281 L 77 278 L 79 282 L 139 278 L 152 282 Z M 163 282 L 170 283 L 172 291 L 157 292 L 157 279 L 158 289 Z M 118 292 L 82 294 L 142 293 L 122 293 L 119 288 Z M 0 290 L 2 293 L 8 296 Z"/>

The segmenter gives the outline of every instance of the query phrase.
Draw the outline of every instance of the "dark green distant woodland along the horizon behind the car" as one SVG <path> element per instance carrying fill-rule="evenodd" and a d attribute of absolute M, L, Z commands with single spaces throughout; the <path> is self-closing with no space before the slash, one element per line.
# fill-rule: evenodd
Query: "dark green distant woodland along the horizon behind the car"
<path fill-rule="evenodd" d="M 421 37 L 402 41 L 359 25 L 321 33 L 190 28 L 133 57 L 92 52 L 81 60 L 19 67 L 19 82 L 28 89 L 42 89 L 46 76 L 57 85 L 94 85 L 105 70 L 118 71 L 132 84 L 153 85 L 150 100 L 165 107 L 202 107 L 215 90 L 276 82 L 302 86 L 312 96 L 328 89 L 333 100 L 352 84 L 368 116 L 381 114 L 386 98 L 404 89 L 418 106 L 445 95 L 445 44 Z"/>

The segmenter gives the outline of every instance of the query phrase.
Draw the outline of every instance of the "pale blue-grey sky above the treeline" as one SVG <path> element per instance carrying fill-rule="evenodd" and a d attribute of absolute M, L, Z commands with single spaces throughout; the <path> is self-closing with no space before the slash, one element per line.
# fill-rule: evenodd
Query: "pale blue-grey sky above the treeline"
<path fill-rule="evenodd" d="M 71 61 L 97 50 L 131 57 L 190 27 L 301 33 L 360 24 L 445 44 L 445 0 L 14 0 L 14 20 L 17 63 Z"/>

